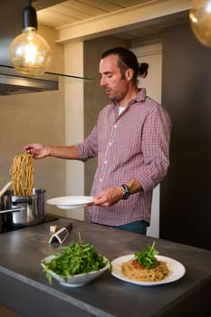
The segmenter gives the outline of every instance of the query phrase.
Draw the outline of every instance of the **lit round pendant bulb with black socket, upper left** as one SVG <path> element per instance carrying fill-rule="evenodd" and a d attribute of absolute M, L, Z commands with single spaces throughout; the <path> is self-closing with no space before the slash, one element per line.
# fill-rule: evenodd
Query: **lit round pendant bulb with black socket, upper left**
<path fill-rule="evenodd" d="M 37 34 L 36 11 L 32 1 L 23 11 L 23 33 L 14 38 L 10 45 L 10 61 L 17 72 L 35 76 L 42 73 L 51 59 L 51 48 Z"/>

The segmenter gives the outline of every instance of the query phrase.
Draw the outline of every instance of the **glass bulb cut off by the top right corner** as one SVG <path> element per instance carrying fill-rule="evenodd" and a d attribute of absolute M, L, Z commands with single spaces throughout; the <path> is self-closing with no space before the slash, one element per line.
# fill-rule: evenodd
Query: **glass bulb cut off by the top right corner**
<path fill-rule="evenodd" d="M 211 0 L 194 0 L 189 21 L 197 40 L 211 47 Z"/>

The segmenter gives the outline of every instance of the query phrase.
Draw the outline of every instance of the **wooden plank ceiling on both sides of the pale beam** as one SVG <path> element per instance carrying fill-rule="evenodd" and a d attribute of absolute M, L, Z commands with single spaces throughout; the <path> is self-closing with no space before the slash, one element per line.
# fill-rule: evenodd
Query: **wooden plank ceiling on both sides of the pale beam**
<path fill-rule="evenodd" d="M 37 10 L 38 23 L 59 28 L 63 25 L 82 22 L 82 20 L 92 17 L 127 10 L 130 6 L 146 3 L 151 3 L 151 0 L 34 0 L 33 6 Z M 139 27 L 115 34 L 115 36 L 134 42 L 158 37 L 163 29 L 187 22 L 188 16 L 183 14 L 179 18 L 174 17 L 165 22 Z"/>

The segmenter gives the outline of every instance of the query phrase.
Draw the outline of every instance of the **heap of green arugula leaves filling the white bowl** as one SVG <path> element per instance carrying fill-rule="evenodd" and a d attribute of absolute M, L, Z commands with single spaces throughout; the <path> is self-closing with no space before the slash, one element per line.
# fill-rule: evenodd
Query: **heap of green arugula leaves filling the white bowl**
<path fill-rule="evenodd" d="M 43 271 L 49 283 L 52 283 L 52 275 L 49 274 L 49 270 L 67 281 L 68 277 L 99 271 L 108 264 L 108 261 L 94 249 L 93 245 L 82 243 L 81 236 L 78 242 L 72 241 L 70 245 L 61 246 L 59 249 L 62 250 L 62 253 L 55 255 L 51 262 L 47 263 L 43 260 L 45 265 Z"/>

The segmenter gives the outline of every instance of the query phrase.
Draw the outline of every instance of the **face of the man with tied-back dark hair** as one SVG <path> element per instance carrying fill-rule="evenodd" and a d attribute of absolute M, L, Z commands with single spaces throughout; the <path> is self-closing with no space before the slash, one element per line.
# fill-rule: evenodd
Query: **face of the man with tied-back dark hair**
<path fill-rule="evenodd" d="M 100 62 L 101 87 L 105 89 L 110 100 L 122 101 L 129 90 L 129 82 L 122 79 L 118 67 L 118 55 L 109 55 Z"/>

